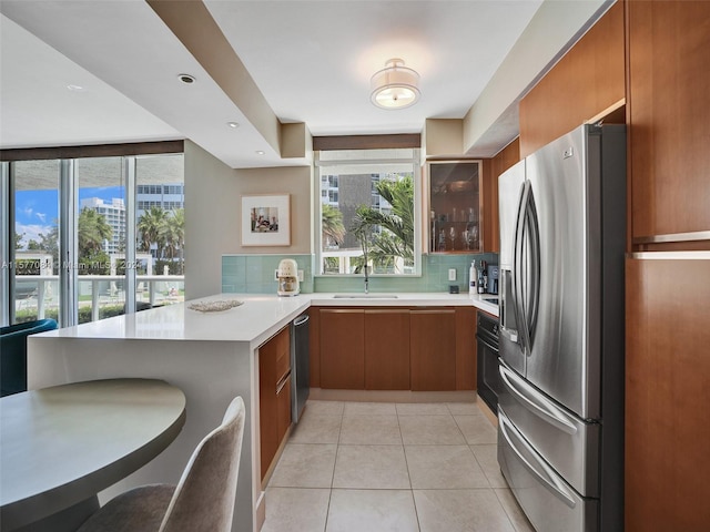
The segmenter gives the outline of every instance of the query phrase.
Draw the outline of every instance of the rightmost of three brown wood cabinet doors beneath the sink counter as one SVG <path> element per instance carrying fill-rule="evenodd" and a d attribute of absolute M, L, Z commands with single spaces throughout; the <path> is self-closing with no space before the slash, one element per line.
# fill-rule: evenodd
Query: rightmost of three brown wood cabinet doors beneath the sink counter
<path fill-rule="evenodd" d="M 412 310 L 409 315 L 412 389 L 456 389 L 456 313 Z"/>

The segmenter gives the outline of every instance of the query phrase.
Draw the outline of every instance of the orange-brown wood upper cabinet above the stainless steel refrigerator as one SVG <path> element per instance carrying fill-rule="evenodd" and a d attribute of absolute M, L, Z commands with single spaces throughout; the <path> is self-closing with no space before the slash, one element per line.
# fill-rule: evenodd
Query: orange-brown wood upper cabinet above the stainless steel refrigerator
<path fill-rule="evenodd" d="M 618 106 L 625 83 L 623 2 L 618 1 L 520 101 L 520 156 Z"/>

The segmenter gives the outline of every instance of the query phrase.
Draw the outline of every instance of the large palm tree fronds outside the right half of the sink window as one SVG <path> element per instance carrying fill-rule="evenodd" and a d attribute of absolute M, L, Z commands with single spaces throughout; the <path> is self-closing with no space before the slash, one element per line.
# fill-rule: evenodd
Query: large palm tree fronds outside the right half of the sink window
<path fill-rule="evenodd" d="M 399 181 L 381 181 L 377 193 L 392 205 L 385 214 L 376 208 L 361 205 L 351 231 L 364 234 L 363 227 L 381 227 L 369 238 L 369 256 L 378 266 L 396 267 L 396 259 L 414 262 L 414 180 L 405 176 Z M 362 242 L 361 242 L 362 244 Z"/>

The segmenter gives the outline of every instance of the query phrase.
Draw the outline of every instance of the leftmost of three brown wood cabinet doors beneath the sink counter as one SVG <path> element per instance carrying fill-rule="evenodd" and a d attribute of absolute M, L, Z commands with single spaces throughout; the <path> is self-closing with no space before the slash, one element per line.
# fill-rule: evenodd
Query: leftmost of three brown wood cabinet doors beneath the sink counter
<path fill-rule="evenodd" d="M 364 309 L 321 309 L 321 388 L 365 389 L 364 331 Z"/>

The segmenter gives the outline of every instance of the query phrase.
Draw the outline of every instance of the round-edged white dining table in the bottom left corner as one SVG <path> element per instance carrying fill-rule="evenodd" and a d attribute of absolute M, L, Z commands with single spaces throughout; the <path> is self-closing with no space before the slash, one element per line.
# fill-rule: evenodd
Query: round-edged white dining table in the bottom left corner
<path fill-rule="evenodd" d="M 178 437 L 185 396 L 163 380 L 91 380 L 3 397 L 0 417 L 2 532 L 63 532 Z"/>

